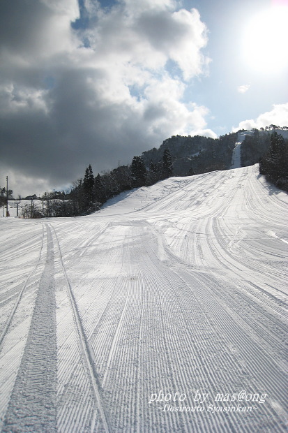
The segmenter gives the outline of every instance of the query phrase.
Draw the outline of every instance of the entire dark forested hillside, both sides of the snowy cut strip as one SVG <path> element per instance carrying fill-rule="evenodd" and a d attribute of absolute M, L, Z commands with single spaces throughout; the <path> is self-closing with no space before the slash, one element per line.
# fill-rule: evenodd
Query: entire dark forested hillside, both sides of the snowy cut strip
<path fill-rule="evenodd" d="M 241 166 L 260 163 L 260 173 L 266 175 L 280 189 L 288 191 L 288 142 L 275 132 L 279 127 L 252 129 L 241 144 Z M 287 127 L 283 131 L 287 131 Z M 280 129 L 281 130 L 281 129 Z M 93 175 L 89 165 L 84 177 L 73 182 L 70 191 L 46 192 L 41 200 L 43 209 L 35 210 L 35 217 L 73 217 L 91 214 L 109 198 L 141 186 L 151 186 L 171 176 L 190 176 L 231 167 L 232 154 L 238 134 L 229 133 L 219 138 L 200 135 L 174 135 L 157 149 L 134 156 L 131 164 L 119 166 L 100 175 Z M 5 188 L 0 189 L 1 200 L 6 198 Z M 13 191 L 9 191 L 12 198 Z M 33 200 L 33 197 L 29 196 Z M 26 213 L 31 217 L 31 211 Z"/>

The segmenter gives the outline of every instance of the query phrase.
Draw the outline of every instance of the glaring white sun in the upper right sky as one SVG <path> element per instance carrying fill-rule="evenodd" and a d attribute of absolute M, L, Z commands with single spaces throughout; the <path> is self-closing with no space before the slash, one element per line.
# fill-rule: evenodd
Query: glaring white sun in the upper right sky
<path fill-rule="evenodd" d="M 256 71 L 281 72 L 287 66 L 288 7 L 272 6 L 248 20 L 243 38 L 245 62 Z"/>

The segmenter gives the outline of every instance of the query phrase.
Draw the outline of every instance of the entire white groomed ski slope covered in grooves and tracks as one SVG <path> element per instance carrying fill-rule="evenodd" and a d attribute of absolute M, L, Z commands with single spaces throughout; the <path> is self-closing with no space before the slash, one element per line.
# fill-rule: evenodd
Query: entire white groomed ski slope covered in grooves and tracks
<path fill-rule="evenodd" d="M 0 221 L 2 432 L 285 432 L 287 194 L 257 166 Z"/>

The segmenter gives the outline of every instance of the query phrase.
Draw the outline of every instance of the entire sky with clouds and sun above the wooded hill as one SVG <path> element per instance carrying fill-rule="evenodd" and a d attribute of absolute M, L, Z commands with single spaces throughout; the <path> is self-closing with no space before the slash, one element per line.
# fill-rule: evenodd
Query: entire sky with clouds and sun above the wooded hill
<path fill-rule="evenodd" d="M 288 0 L 2 0 L 0 186 L 67 190 L 172 135 L 288 126 Z"/>

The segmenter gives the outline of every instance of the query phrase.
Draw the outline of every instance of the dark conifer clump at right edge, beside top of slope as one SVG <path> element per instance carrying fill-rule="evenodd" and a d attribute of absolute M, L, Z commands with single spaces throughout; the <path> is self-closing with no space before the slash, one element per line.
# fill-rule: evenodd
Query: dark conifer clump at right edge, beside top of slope
<path fill-rule="evenodd" d="M 268 181 L 288 192 L 288 145 L 276 131 L 271 134 L 268 151 L 259 161 L 259 170 Z"/>

